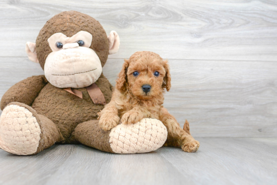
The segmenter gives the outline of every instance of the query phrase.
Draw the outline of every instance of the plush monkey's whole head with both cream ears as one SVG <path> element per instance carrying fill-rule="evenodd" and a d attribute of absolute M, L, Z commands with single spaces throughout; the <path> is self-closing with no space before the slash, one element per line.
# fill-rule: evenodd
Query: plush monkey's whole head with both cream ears
<path fill-rule="evenodd" d="M 119 36 L 105 30 L 92 17 L 76 11 L 61 12 L 46 22 L 36 43 L 27 42 L 31 61 L 59 88 L 82 88 L 97 81 L 108 54 L 119 49 Z"/>

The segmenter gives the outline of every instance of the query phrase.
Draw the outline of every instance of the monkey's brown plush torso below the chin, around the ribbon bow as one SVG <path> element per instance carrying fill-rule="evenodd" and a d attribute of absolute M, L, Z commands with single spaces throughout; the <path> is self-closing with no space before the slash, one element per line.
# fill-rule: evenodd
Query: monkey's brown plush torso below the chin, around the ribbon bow
<path fill-rule="evenodd" d="M 112 85 L 107 78 L 102 74 L 95 83 L 101 89 L 105 100 L 110 102 Z M 97 113 L 104 108 L 103 105 L 92 102 L 86 88 L 78 90 L 83 93 L 83 99 L 47 83 L 32 104 L 38 114 L 44 115 L 58 126 L 64 137 L 63 142 L 67 142 L 78 124 L 97 120 Z"/>

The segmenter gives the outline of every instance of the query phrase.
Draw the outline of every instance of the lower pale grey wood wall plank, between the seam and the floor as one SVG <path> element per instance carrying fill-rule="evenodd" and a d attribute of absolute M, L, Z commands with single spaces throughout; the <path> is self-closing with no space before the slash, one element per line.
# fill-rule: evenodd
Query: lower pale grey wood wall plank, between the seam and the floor
<path fill-rule="evenodd" d="M 0 98 L 15 83 L 43 74 L 27 57 L 1 57 Z M 104 75 L 115 85 L 123 59 L 109 58 Z M 275 62 L 169 60 L 172 87 L 164 106 L 195 137 L 276 137 Z"/>

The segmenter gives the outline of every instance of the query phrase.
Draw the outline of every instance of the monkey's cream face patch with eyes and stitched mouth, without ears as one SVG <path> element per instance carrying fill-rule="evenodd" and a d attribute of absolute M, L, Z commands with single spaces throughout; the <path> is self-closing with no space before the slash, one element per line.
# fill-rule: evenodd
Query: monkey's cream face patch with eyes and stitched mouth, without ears
<path fill-rule="evenodd" d="M 52 52 L 44 64 L 46 79 L 59 88 L 82 88 L 94 83 L 102 73 L 102 66 L 90 48 L 92 42 L 92 35 L 86 31 L 72 37 L 62 33 L 49 37 Z"/>

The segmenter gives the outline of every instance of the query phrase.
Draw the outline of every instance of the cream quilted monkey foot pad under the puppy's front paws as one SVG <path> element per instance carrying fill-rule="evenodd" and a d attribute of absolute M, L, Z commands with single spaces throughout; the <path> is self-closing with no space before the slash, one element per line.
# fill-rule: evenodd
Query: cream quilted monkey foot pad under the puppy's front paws
<path fill-rule="evenodd" d="M 163 146 L 167 129 L 161 121 L 145 118 L 135 124 L 117 125 L 109 136 L 110 146 L 115 153 L 145 153 Z"/>

